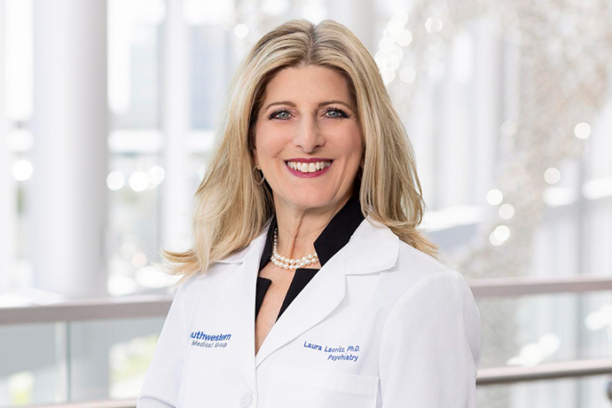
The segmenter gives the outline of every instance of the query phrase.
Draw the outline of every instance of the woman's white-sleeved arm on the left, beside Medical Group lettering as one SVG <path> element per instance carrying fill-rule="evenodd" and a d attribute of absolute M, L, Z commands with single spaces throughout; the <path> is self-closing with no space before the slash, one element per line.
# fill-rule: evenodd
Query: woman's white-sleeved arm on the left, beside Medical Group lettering
<path fill-rule="evenodd" d="M 184 300 L 185 286 L 178 286 L 170 305 L 168 316 L 161 328 L 159 340 L 153 353 L 151 365 L 137 396 L 137 408 L 174 408 L 177 406 L 181 373 L 187 354 L 189 333 L 186 329 L 187 305 Z"/>

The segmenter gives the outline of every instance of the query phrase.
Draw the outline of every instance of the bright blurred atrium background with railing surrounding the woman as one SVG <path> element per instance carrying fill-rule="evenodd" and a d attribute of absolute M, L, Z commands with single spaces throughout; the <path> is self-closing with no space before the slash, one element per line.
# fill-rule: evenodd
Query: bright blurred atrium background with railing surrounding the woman
<path fill-rule="evenodd" d="M 482 407 L 612 402 L 611 0 L 0 0 L 0 407 L 130 407 L 236 67 L 286 20 L 372 53 Z M 77 405 L 81 403 L 83 405 Z"/>

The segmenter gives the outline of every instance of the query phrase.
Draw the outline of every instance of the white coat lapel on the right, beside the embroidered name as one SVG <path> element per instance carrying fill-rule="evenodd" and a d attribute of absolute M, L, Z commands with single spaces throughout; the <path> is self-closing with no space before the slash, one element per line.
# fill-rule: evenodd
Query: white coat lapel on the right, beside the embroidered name
<path fill-rule="evenodd" d="M 346 275 L 389 269 L 396 264 L 398 251 L 396 235 L 366 217 L 349 243 L 321 267 L 272 326 L 255 356 L 255 366 L 331 314 L 344 299 Z"/>

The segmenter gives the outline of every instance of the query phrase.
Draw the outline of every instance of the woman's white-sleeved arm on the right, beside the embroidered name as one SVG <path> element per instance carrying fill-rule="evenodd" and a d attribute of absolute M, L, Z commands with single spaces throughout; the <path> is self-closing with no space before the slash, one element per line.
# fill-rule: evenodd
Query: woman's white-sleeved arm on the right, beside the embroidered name
<path fill-rule="evenodd" d="M 420 279 L 381 335 L 382 407 L 475 408 L 480 331 L 480 312 L 459 272 Z"/>

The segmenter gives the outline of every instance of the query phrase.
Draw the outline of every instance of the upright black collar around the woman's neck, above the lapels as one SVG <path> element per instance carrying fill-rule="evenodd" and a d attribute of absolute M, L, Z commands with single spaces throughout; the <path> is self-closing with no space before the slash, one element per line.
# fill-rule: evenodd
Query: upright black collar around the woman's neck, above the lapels
<path fill-rule="evenodd" d="M 359 199 L 351 197 L 344 207 L 336 213 L 330 220 L 326 228 L 321 231 L 320 235 L 314 242 L 315 250 L 318 255 L 318 262 L 321 266 L 325 265 L 338 251 L 341 250 L 348 242 L 353 232 L 364 220 L 364 215 L 361 213 L 361 204 Z M 274 229 L 276 228 L 276 215 L 272 216 L 270 227 L 268 228 L 268 236 L 266 238 L 265 247 L 261 262 L 259 263 L 259 271 L 270 262 L 272 255 L 272 240 L 274 239 Z"/>

